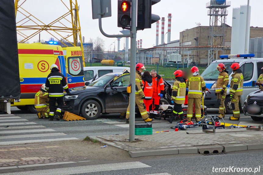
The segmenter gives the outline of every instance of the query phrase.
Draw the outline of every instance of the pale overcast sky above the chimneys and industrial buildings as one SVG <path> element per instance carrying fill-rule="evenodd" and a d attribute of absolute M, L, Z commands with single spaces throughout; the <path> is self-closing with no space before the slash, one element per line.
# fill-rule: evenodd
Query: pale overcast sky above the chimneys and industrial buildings
<path fill-rule="evenodd" d="M 68 0 L 63 0 L 65 4 L 69 6 Z M 207 16 L 206 3 L 210 0 L 161 0 L 161 2 L 152 6 L 152 13 L 159 15 L 161 18 L 165 17 L 165 33 L 167 32 L 168 26 L 168 13 L 172 13 L 171 22 L 171 41 L 179 39 L 179 32 L 184 29 L 190 29 L 196 26 L 195 23 L 201 23 L 202 26 L 209 26 L 209 16 Z M 92 19 L 91 0 L 78 0 L 80 5 L 80 26 L 82 36 L 85 37 L 87 42 L 89 38 L 96 38 L 97 36 L 105 40 L 105 51 L 108 49 L 114 50 L 114 44 L 109 47 L 116 38 L 104 37 L 98 27 L 98 19 Z M 232 9 L 240 7 L 240 5 L 246 5 L 247 0 L 232 0 L 231 6 L 227 9 L 228 16 L 226 24 L 232 26 Z M 263 27 L 263 15 L 262 0 L 250 0 L 251 5 L 251 23 L 250 26 Z M 26 9 L 32 15 L 44 23 L 50 23 L 62 16 L 66 12 L 66 7 L 59 0 L 27 0 L 23 5 L 23 9 Z M 24 18 L 18 13 L 17 21 Z M 161 21 L 160 21 L 161 22 Z M 121 28 L 117 27 L 117 0 L 112 0 L 112 16 L 102 19 L 102 27 L 107 34 L 118 34 Z M 65 36 L 67 33 L 65 34 Z M 156 36 L 156 24 L 152 24 L 151 29 L 145 29 L 138 31 L 137 40 L 142 39 L 142 47 L 152 47 L 155 44 Z M 50 38 L 48 33 L 41 32 L 41 39 L 48 40 Z M 263 34 L 262 34 L 263 37 Z M 20 37 L 18 36 L 18 39 Z M 30 43 L 38 40 L 34 37 L 30 40 Z M 73 40 L 73 38 L 71 38 Z M 120 49 L 123 49 L 124 38 L 121 39 Z M 165 42 L 167 42 L 167 34 L 165 35 Z M 159 44 L 161 43 L 161 24 L 159 30 Z M 130 48 L 130 44 L 129 44 Z M 117 49 L 117 41 L 116 41 Z"/>

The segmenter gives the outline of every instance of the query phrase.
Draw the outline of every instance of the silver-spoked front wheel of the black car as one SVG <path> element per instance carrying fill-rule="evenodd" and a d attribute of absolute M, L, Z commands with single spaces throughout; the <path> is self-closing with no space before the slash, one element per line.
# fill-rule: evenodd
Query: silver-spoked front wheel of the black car
<path fill-rule="evenodd" d="M 88 120 L 94 120 L 100 116 L 101 106 L 98 102 L 94 100 L 88 100 L 82 105 L 80 113 L 82 117 Z"/>

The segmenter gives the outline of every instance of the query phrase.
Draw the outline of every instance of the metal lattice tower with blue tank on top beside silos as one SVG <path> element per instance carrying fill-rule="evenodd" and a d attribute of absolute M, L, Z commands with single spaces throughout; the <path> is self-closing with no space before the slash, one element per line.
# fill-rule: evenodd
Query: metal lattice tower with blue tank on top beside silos
<path fill-rule="evenodd" d="M 208 8 L 207 15 L 210 16 L 209 21 L 209 46 L 224 46 L 225 45 L 225 23 L 228 15 L 227 7 L 230 7 L 230 2 L 226 0 L 211 0 L 206 3 Z M 218 51 L 208 51 L 208 65 L 217 59 Z"/>

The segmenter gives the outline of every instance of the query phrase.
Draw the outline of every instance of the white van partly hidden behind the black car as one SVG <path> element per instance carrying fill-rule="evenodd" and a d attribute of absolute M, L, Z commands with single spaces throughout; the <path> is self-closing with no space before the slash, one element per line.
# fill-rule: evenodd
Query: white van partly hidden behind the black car
<path fill-rule="evenodd" d="M 84 80 L 87 86 L 92 80 L 101 77 L 107 73 L 123 72 L 125 68 L 129 67 L 117 67 L 117 66 L 91 66 L 84 67 Z M 130 69 L 130 68 L 129 68 Z M 88 83 L 87 83 L 88 82 Z"/>

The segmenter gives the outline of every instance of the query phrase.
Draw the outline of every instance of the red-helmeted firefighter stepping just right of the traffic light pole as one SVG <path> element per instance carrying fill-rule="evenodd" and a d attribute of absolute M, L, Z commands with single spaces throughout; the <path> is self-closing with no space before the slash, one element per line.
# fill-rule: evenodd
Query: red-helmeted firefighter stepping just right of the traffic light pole
<path fill-rule="evenodd" d="M 148 113 L 146 111 L 146 106 L 143 103 L 143 99 L 145 99 L 145 95 L 143 90 L 141 89 L 142 86 L 142 80 L 141 80 L 141 73 L 142 70 L 145 70 L 145 67 L 143 64 L 138 63 L 136 65 L 136 75 L 135 75 L 135 103 L 137 104 L 139 110 L 140 110 L 140 114 L 141 117 L 143 118 L 143 120 L 145 122 L 150 122 L 153 121 L 154 119 L 150 119 L 148 116 Z M 135 105 L 135 104 L 132 104 Z M 126 123 L 129 123 L 129 117 L 130 117 L 130 102 L 129 102 L 129 106 L 127 108 L 127 112 L 126 112 Z"/>

